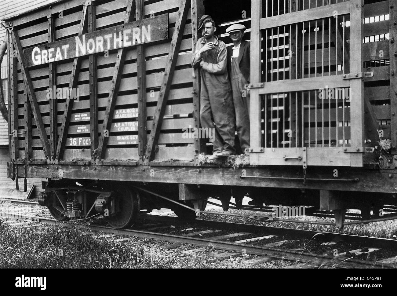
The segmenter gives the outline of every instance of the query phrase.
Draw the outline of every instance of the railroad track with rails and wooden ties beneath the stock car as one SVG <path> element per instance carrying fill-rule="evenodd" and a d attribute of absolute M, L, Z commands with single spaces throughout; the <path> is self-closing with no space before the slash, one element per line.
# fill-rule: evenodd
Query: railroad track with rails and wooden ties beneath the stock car
<path fill-rule="evenodd" d="M 18 220 L 42 222 L 46 224 L 58 224 L 54 219 L 43 217 L 23 216 Z M 16 222 L 21 224 L 21 222 Z M 215 253 L 214 257 L 229 258 L 243 253 L 259 255 L 252 259 L 252 263 L 269 261 L 269 259 L 283 259 L 295 261 L 291 267 L 337 267 L 337 268 L 396 268 L 397 252 L 391 257 L 385 257 L 378 261 L 356 259 L 361 255 L 374 254 L 381 250 L 397 250 L 397 240 L 384 238 L 369 238 L 347 234 L 329 232 L 314 232 L 291 228 L 277 228 L 258 226 L 252 224 L 238 224 L 230 222 L 218 222 L 207 220 L 183 221 L 174 217 L 155 215 L 142 215 L 140 223 L 133 229 L 118 230 L 102 225 L 104 221 L 95 221 L 92 224 L 76 224 L 75 222 L 63 222 L 67 227 L 79 227 L 117 236 L 134 236 L 138 238 L 150 238 L 166 241 L 171 244 L 162 246 L 164 249 L 172 249 L 182 244 L 192 244 L 199 247 L 191 250 L 191 253 L 204 251 L 206 247 L 227 251 Z M 15 225 L 15 224 L 14 224 Z M 160 230 L 158 232 L 157 230 Z M 289 248 L 294 242 L 292 238 L 301 238 L 316 242 L 326 251 L 320 253 L 307 252 L 307 245 L 303 248 Z M 320 242 L 319 242 L 320 240 Z M 260 242 L 260 244 L 258 244 Z M 334 250 L 343 244 L 359 245 L 347 250 L 342 250 L 337 255 Z M 287 246 L 287 247 L 285 247 Z"/>

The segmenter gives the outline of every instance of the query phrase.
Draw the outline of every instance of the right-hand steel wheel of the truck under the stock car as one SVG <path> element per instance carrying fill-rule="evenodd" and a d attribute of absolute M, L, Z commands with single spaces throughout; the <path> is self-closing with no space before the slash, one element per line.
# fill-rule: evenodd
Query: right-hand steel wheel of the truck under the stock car
<path fill-rule="evenodd" d="M 139 194 L 131 189 L 120 186 L 116 194 L 120 212 L 114 216 L 106 217 L 113 228 L 122 229 L 132 226 L 138 219 L 140 211 Z"/>

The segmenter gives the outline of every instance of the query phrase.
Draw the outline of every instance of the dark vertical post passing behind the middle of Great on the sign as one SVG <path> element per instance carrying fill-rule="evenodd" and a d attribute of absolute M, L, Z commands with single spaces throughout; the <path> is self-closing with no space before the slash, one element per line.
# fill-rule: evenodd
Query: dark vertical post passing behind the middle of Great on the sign
<path fill-rule="evenodd" d="M 48 15 L 48 42 L 55 41 L 55 17 Z M 50 104 L 50 159 L 54 161 L 56 144 L 58 143 L 58 116 L 57 116 L 57 101 L 56 101 L 56 67 L 54 63 L 48 64 L 48 83 L 51 92 L 49 99 Z"/>

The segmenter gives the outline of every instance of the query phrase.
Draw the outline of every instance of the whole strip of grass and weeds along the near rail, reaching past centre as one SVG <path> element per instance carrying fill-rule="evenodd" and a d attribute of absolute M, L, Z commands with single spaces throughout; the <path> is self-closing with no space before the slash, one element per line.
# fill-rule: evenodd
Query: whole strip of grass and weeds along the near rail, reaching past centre
<path fill-rule="evenodd" d="M 83 232 L 62 225 L 26 228 L 1 224 L 0 221 L 0 268 L 251 267 L 243 264 L 245 257 L 224 261 L 208 257 L 208 252 L 214 251 L 210 247 L 197 255 L 186 255 L 184 250 L 197 247 L 184 245 L 167 251 L 160 248 L 164 245 L 160 241 L 140 245 L 133 242 L 141 239 L 132 238 L 131 241 L 116 243 L 113 238 L 94 238 L 93 234 L 97 235 L 96 232 Z"/>

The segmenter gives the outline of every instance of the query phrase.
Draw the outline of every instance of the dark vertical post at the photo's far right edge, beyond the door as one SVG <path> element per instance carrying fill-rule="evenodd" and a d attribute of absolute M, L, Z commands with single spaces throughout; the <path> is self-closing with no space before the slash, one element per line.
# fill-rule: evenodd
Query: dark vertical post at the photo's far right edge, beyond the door
<path fill-rule="evenodd" d="M 397 3 L 389 0 L 391 152 L 397 154 Z M 353 127 L 351 127 L 353 128 Z"/>

